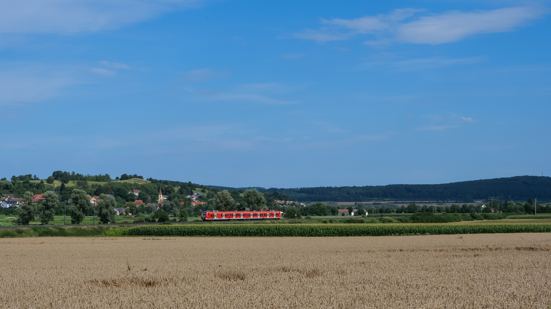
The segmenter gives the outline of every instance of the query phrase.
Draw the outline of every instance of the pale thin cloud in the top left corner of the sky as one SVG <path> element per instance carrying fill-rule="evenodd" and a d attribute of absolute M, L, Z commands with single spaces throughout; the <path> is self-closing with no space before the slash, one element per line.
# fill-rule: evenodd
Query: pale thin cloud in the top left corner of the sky
<path fill-rule="evenodd" d="M 199 0 L 17 0 L 0 1 L 0 32 L 72 34 L 115 29 Z"/>

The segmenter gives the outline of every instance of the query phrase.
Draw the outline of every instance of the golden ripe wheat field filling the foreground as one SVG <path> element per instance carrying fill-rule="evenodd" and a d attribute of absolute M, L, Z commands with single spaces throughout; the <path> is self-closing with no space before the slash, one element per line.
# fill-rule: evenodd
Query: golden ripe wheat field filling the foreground
<path fill-rule="evenodd" d="M 0 239 L 0 308 L 548 308 L 551 233 Z"/>

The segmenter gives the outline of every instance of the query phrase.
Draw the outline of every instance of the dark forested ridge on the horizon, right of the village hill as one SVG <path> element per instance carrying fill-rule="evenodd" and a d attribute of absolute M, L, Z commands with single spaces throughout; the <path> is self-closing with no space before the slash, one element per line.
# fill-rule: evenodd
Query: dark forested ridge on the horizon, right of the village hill
<path fill-rule="evenodd" d="M 551 177 L 547 176 L 515 176 L 436 185 L 304 187 L 291 189 L 257 187 L 257 189 L 270 193 L 277 191 L 279 194 L 288 195 L 302 202 L 373 200 L 472 202 L 474 200 L 485 200 L 490 196 L 499 198 L 502 201 L 526 201 L 528 198 L 538 198 L 542 202 L 551 201 Z"/>

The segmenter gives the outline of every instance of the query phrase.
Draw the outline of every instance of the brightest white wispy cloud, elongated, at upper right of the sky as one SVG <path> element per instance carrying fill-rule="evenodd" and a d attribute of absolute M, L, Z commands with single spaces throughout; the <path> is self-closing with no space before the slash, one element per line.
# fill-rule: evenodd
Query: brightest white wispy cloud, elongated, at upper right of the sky
<path fill-rule="evenodd" d="M 356 19 L 322 19 L 329 26 L 318 30 L 305 29 L 295 37 L 317 42 L 348 40 L 358 35 L 372 35 L 375 40 L 367 44 L 414 43 L 437 45 L 460 41 L 471 35 L 512 31 L 528 20 L 538 19 L 546 13 L 535 7 L 513 7 L 495 10 L 460 12 L 419 16 L 419 9 L 396 9 L 388 14 L 364 16 Z"/>

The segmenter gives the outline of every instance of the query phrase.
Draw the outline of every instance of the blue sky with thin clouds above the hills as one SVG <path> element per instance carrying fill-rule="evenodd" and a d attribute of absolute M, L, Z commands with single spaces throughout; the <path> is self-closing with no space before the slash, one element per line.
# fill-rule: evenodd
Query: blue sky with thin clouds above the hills
<path fill-rule="evenodd" d="M 551 174 L 549 3 L 0 3 L 0 177 Z"/>

